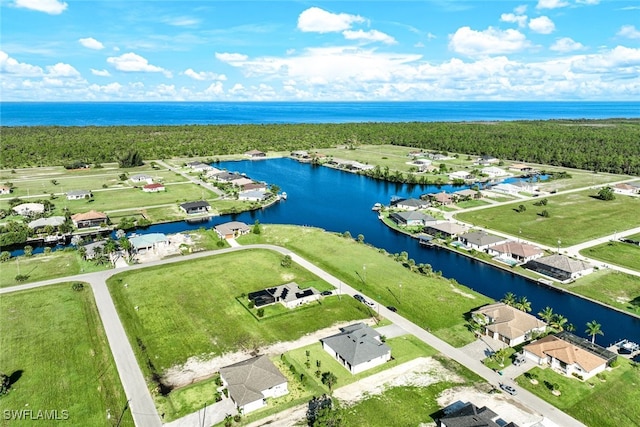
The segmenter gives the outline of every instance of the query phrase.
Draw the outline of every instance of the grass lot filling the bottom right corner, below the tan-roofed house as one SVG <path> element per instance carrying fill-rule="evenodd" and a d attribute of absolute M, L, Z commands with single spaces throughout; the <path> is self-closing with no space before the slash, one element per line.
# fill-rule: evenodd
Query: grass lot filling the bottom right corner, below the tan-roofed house
<path fill-rule="evenodd" d="M 533 385 L 524 376 L 516 381 L 560 410 L 589 426 L 617 427 L 640 425 L 640 368 L 628 360 L 618 358 L 620 365 L 611 372 L 604 372 L 586 382 L 567 378 L 551 369 L 533 368 L 538 376 Z M 560 386 L 560 396 L 551 394 L 547 383 Z M 591 386 L 592 384 L 593 386 Z"/>

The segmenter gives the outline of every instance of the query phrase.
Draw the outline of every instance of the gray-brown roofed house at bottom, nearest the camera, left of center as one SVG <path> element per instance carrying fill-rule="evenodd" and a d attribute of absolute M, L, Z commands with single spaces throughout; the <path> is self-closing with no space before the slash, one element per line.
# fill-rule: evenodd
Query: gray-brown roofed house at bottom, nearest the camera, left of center
<path fill-rule="evenodd" d="M 257 356 L 220 369 L 229 395 L 238 406 L 262 399 L 262 392 L 287 382 L 267 356 Z"/>

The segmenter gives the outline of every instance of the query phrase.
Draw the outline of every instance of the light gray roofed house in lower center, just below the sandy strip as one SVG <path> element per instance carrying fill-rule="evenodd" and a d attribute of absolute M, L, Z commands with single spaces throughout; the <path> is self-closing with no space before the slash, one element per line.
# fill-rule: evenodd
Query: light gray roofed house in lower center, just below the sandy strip
<path fill-rule="evenodd" d="M 379 340 L 380 334 L 364 323 L 340 328 L 340 333 L 322 338 L 320 341 L 328 345 L 351 366 L 384 356 L 391 348 Z"/>

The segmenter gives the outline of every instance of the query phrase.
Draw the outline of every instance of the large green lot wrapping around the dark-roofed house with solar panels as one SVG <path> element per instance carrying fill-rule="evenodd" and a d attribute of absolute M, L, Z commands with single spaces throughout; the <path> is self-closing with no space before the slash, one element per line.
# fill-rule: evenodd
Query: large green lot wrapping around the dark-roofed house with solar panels
<path fill-rule="evenodd" d="M 324 283 L 295 264 L 282 267 L 281 259 L 271 251 L 250 250 L 109 279 L 109 289 L 143 370 L 152 372 L 148 360 L 153 370 L 162 373 L 191 356 L 251 350 L 294 340 L 335 322 L 368 317 L 365 306 L 353 298 L 326 298 L 286 315 L 256 320 L 236 297 L 290 281 L 301 287 L 313 284 L 321 288 L 319 284 Z M 324 283 L 324 287 L 329 285 Z"/>

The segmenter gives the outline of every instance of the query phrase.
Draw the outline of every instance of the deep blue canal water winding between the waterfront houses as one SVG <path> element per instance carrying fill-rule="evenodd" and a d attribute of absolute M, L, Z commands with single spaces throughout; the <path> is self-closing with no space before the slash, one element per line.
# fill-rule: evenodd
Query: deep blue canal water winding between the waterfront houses
<path fill-rule="evenodd" d="M 144 232 L 177 233 L 203 226 L 209 228 L 231 219 L 248 224 L 257 219 L 263 224 L 308 225 L 339 233 L 349 231 L 354 237 L 363 234 L 365 241 L 373 246 L 384 248 L 390 253 L 406 251 L 417 263 L 431 264 L 434 270 L 442 271 L 443 276 L 453 278 L 496 300 L 507 292 L 513 292 L 518 296 L 526 296 L 531 301 L 533 313 L 550 306 L 575 325 L 577 335 L 585 336 L 586 323 L 595 319 L 602 324 L 605 333 L 604 337 L 598 337 L 600 344 L 608 345 L 623 338 L 640 342 L 639 319 L 537 285 L 518 275 L 444 249 L 421 247 L 416 239 L 383 225 L 371 210 L 376 202 L 388 204 L 393 196 L 418 197 L 423 193 L 442 190 L 450 192 L 460 187 L 393 184 L 286 158 L 221 162 L 215 166 L 246 173 L 259 181 L 275 183 L 287 193 L 288 198 L 264 210 L 215 217 L 200 224 L 158 224 Z M 442 310 L 446 309 L 442 307 Z"/>

